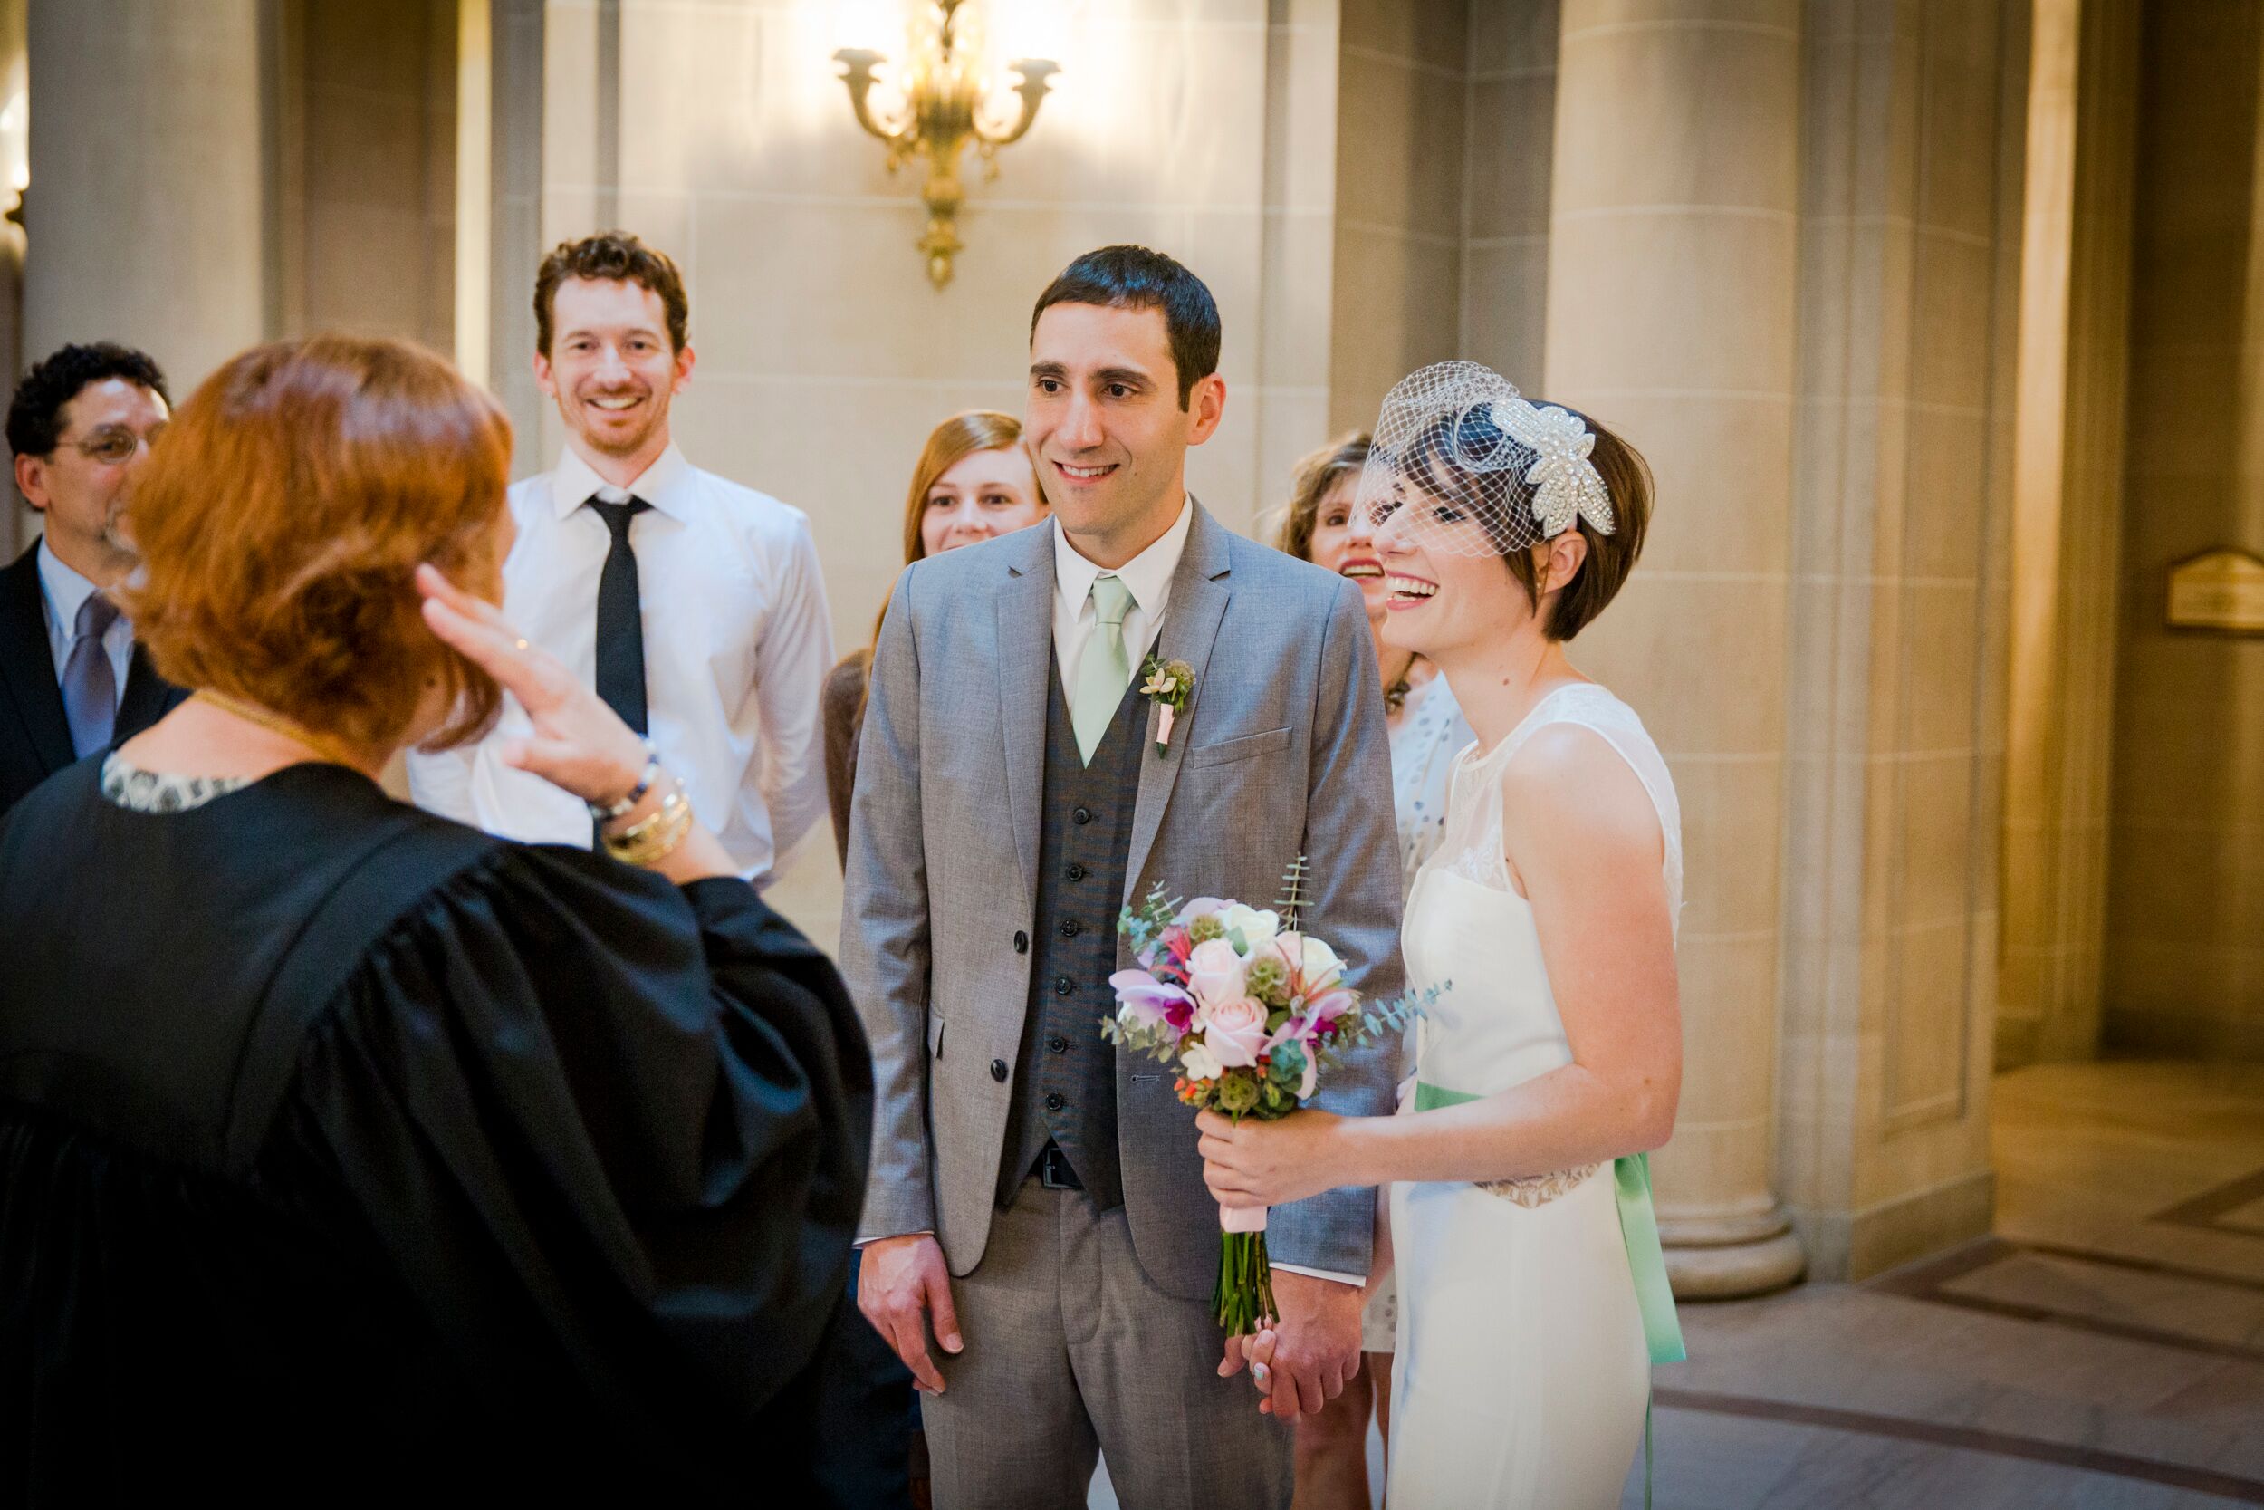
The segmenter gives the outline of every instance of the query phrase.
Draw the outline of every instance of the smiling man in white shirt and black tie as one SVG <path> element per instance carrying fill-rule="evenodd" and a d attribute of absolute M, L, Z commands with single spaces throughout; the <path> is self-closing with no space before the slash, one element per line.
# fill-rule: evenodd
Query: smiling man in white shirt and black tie
<path fill-rule="evenodd" d="M 826 810 L 817 688 L 833 632 L 808 518 L 670 439 L 693 349 L 666 254 L 625 231 L 566 242 L 537 274 L 534 319 L 534 378 L 566 453 L 512 487 L 503 611 L 652 738 L 763 885 Z M 410 792 L 489 833 L 589 844 L 589 810 L 509 763 L 530 733 L 507 702 L 475 747 L 410 756 Z"/>

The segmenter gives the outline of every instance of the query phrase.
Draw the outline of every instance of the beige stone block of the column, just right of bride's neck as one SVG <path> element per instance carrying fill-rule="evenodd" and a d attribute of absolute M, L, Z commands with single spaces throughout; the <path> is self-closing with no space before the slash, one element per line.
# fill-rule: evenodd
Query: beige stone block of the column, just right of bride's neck
<path fill-rule="evenodd" d="M 1580 632 L 1573 661 L 1641 713 L 1669 761 L 1773 756 L 1784 738 L 1782 647 L 1782 589 L 1637 575 Z"/>

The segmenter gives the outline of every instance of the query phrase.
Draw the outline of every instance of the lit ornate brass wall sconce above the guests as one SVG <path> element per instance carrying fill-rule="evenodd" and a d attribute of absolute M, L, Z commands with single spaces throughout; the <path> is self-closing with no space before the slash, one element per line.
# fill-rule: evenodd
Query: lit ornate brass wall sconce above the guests
<path fill-rule="evenodd" d="M 964 247 L 958 231 L 960 204 L 967 199 L 960 154 L 974 145 L 985 165 L 983 177 L 996 179 L 998 147 L 1023 138 L 1037 120 L 1037 104 L 1053 88 L 1048 79 L 1062 70 L 1050 59 L 1014 59 L 1007 72 L 1021 84 L 1012 91 L 994 88 L 983 72 L 983 50 L 967 45 L 969 38 L 960 34 L 967 20 L 962 9 L 964 0 L 921 2 L 921 23 L 903 66 L 901 100 L 892 106 L 874 109 L 872 100 L 874 68 L 887 57 L 869 48 L 842 48 L 833 54 L 849 86 L 856 122 L 887 145 L 887 170 L 897 172 L 897 165 L 912 156 L 928 163 L 928 181 L 919 190 L 928 206 L 928 229 L 917 244 L 928 258 L 928 283 L 935 288 L 951 283 L 951 258 Z M 1012 122 L 989 125 L 998 120 L 1003 93 L 1021 95 L 1021 109 Z"/>

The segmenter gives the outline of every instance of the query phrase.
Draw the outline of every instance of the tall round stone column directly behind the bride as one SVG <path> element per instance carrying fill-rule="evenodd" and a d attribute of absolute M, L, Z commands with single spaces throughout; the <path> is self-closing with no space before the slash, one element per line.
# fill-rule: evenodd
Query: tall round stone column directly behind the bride
<path fill-rule="evenodd" d="M 1682 1116 L 1653 1161 L 1680 1295 L 1795 1279 L 1773 1193 L 1793 487 L 1798 0 L 1564 0 L 1544 396 L 1657 473 L 1576 654 L 1682 797 Z"/>

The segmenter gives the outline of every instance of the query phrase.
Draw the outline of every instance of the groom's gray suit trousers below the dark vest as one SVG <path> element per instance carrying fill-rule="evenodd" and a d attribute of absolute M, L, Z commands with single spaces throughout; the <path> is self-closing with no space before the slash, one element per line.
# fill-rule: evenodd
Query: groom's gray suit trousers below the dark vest
<path fill-rule="evenodd" d="M 1209 1304 L 1148 1284 L 1123 1207 L 1026 1182 L 951 1299 L 967 1349 L 931 1354 L 921 1401 L 937 1510 L 1082 1505 L 1096 1453 L 1125 1510 L 1288 1508 L 1290 1429 L 1218 1376 Z"/>

